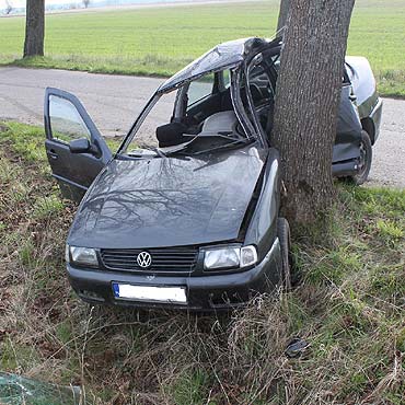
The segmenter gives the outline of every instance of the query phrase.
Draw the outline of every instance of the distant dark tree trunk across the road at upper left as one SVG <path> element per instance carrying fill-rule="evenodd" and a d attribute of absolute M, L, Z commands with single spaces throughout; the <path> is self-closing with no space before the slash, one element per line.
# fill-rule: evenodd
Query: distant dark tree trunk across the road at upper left
<path fill-rule="evenodd" d="M 26 0 L 24 58 L 44 56 L 45 0 Z"/>

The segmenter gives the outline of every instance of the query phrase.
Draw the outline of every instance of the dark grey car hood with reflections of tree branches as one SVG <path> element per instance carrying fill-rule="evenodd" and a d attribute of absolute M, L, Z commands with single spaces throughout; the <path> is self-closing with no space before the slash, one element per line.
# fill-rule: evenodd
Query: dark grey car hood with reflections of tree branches
<path fill-rule="evenodd" d="M 198 159 L 115 159 L 80 205 L 68 243 L 131 248 L 235 240 L 264 160 L 254 146 Z"/>

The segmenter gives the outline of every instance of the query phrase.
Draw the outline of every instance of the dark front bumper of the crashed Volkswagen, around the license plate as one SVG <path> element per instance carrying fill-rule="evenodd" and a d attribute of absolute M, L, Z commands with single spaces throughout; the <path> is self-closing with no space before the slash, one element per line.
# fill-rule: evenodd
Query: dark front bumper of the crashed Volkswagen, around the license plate
<path fill-rule="evenodd" d="M 268 292 L 280 281 L 281 253 L 278 239 L 255 267 L 239 273 L 198 277 L 135 275 L 119 271 L 76 268 L 67 265 L 70 285 L 78 296 L 90 303 L 137 308 L 186 310 L 220 310 L 245 304 L 253 296 Z M 135 286 L 186 287 L 187 304 L 117 300 L 113 282 Z"/>

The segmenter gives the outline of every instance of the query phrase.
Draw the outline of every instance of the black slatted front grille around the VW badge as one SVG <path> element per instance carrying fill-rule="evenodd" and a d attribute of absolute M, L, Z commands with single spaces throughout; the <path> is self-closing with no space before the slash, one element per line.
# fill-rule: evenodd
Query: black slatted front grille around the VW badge
<path fill-rule="evenodd" d="M 137 257 L 141 252 L 151 255 L 149 267 L 141 267 Z M 102 248 L 101 258 L 106 268 L 125 271 L 193 271 L 198 250 L 196 247 L 166 248 Z"/>

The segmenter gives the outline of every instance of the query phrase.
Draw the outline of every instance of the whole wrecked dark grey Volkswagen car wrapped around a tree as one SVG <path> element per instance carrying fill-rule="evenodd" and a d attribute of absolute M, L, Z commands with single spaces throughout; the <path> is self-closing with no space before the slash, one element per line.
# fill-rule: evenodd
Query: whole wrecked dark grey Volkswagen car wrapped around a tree
<path fill-rule="evenodd" d="M 79 297 L 216 310 L 288 284 L 271 147 L 280 48 L 259 38 L 215 47 L 157 90 L 114 154 L 73 95 L 47 89 L 53 174 L 81 200 L 66 248 Z M 347 58 L 336 176 L 367 178 L 380 118 L 368 61 Z"/>

